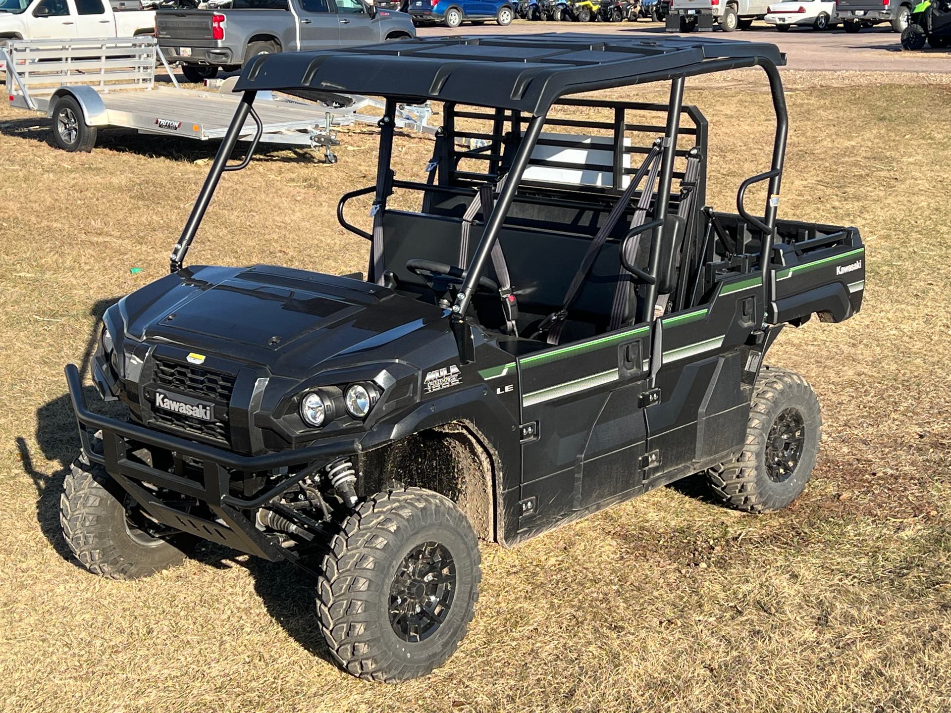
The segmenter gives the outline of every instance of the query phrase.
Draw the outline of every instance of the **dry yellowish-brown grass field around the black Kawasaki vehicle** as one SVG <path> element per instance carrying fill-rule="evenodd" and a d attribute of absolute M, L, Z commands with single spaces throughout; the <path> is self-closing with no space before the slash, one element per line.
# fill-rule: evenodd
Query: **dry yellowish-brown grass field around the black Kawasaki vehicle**
<path fill-rule="evenodd" d="M 787 75 L 781 216 L 859 226 L 868 262 L 860 315 L 788 330 L 770 354 L 824 405 L 804 496 L 757 517 L 663 489 L 485 546 L 468 638 L 397 686 L 328 663 L 311 583 L 289 566 L 209 547 L 120 583 L 69 560 L 62 367 L 107 300 L 165 273 L 211 148 L 106 136 L 68 154 L 45 120 L 0 108 L 0 709 L 951 709 L 951 85 L 887 80 Z M 762 85 L 689 86 L 720 209 L 767 166 Z M 226 176 L 189 261 L 362 269 L 367 244 L 334 211 L 373 182 L 375 141 L 341 138 L 337 165 L 265 154 Z M 400 146 L 401 166 L 425 164 L 427 140 Z"/>

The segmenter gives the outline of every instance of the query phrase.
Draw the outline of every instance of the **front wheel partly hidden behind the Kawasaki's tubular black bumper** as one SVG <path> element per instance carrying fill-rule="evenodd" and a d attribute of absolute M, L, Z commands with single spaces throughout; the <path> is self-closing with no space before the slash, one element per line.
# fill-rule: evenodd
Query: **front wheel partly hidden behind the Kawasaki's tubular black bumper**
<path fill-rule="evenodd" d="M 73 462 L 60 495 L 60 526 L 69 549 L 90 572 L 139 579 L 184 559 L 182 549 L 143 529 L 141 518 L 130 514 L 130 499 L 106 469 L 90 463 L 85 454 Z M 178 544 L 191 542 L 182 535 Z"/>

